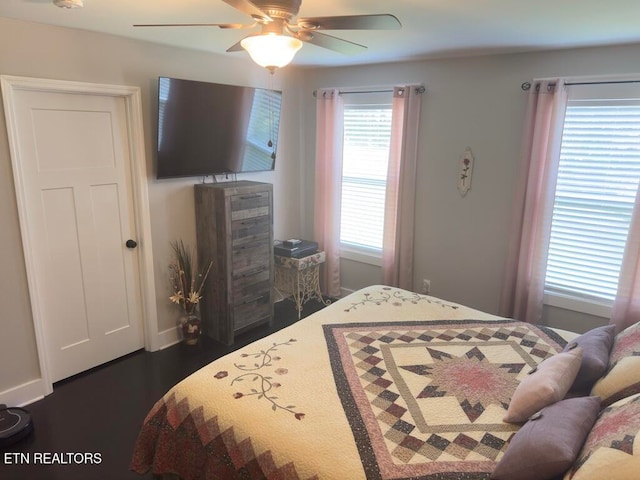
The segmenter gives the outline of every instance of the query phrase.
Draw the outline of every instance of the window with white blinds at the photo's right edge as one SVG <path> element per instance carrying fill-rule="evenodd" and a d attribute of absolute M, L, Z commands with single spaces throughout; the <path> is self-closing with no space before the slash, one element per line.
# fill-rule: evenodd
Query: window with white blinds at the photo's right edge
<path fill-rule="evenodd" d="M 607 316 L 640 179 L 640 95 L 599 98 L 598 87 L 569 90 L 545 291 L 548 304 Z"/>

